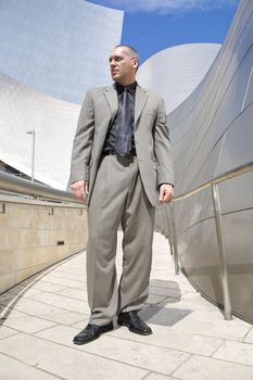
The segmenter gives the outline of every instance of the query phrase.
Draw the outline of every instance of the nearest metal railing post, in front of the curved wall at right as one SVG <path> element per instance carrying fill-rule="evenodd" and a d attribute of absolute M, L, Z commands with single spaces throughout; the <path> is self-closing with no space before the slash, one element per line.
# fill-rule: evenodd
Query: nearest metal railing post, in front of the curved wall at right
<path fill-rule="evenodd" d="M 213 195 L 214 216 L 215 216 L 216 233 L 217 233 L 217 241 L 218 241 L 218 254 L 219 254 L 219 263 L 220 263 L 225 319 L 232 319 L 230 293 L 229 293 L 229 286 L 228 286 L 227 262 L 226 262 L 226 253 L 225 253 L 225 244 L 224 244 L 224 236 L 223 236 L 222 211 L 220 211 L 220 202 L 219 202 L 219 194 L 218 194 L 218 186 L 216 183 L 212 183 L 212 195 Z"/>

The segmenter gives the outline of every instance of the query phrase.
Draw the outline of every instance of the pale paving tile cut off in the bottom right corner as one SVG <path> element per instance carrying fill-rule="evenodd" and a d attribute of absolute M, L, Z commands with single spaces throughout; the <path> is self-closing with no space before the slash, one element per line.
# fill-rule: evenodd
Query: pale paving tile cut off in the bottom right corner
<path fill-rule="evenodd" d="M 252 380 L 253 368 L 194 355 L 173 376 L 181 380 Z"/>

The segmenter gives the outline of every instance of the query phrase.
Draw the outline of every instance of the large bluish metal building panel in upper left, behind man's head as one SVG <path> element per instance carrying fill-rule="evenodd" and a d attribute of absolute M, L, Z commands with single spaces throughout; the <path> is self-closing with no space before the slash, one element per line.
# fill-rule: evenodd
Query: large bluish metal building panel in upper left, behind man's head
<path fill-rule="evenodd" d="M 123 14 L 84 0 L 0 1 L 0 71 L 80 104 L 88 88 L 111 84 Z"/>

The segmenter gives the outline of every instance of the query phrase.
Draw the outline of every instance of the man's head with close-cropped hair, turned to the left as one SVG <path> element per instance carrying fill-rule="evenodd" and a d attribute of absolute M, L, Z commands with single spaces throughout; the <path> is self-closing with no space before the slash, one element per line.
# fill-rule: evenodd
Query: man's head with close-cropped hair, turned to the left
<path fill-rule="evenodd" d="M 113 80 L 127 86 L 135 81 L 138 60 L 126 47 L 115 48 L 110 55 L 110 67 Z"/>

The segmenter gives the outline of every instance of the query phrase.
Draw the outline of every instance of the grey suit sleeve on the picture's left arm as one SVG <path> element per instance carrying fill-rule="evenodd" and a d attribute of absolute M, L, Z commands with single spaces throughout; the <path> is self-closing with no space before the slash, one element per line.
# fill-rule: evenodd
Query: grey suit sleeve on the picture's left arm
<path fill-rule="evenodd" d="M 94 132 L 94 111 L 88 91 L 84 100 L 73 142 L 68 186 L 78 180 L 89 181 L 89 164 Z"/>

